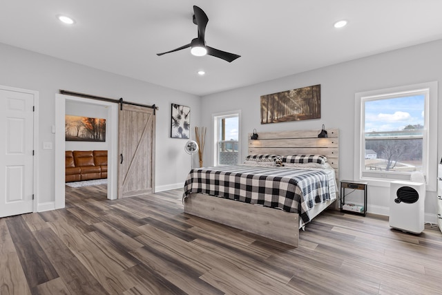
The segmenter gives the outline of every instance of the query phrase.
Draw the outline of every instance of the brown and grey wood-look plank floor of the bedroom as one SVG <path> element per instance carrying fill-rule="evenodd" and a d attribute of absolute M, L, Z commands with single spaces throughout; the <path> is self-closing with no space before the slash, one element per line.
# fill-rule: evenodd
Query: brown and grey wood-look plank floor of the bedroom
<path fill-rule="evenodd" d="M 180 190 L 0 218 L 0 294 L 442 294 L 442 234 L 326 211 L 300 247 L 183 213 Z"/>

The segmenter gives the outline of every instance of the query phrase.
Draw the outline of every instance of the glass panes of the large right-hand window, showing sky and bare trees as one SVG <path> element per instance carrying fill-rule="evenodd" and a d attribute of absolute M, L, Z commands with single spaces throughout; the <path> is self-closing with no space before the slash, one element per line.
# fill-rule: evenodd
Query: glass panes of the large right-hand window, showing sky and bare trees
<path fill-rule="evenodd" d="M 363 171 L 423 172 L 428 91 L 363 98 Z M 364 148 L 364 145 L 363 145 Z"/>

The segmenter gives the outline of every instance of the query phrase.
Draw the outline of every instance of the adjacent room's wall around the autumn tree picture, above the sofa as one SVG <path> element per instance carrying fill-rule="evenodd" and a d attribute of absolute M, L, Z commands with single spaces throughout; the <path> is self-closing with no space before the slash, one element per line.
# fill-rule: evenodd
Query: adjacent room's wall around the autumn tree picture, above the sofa
<path fill-rule="evenodd" d="M 81 102 L 66 102 L 66 115 L 94 117 L 108 120 L 108 110 L 105 106 L 82 104 Z M 106 125 L 106 133 L 108 132 Z M 70 142 L 66 141 L 66 151 L 107 151 L 108 142 Z"/>

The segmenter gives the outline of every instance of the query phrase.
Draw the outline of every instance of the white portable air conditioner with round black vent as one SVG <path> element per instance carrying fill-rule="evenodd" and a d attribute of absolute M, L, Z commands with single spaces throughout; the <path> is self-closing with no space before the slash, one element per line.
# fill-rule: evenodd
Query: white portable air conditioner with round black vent
<path fill-rule="evenodd" d="M 421 182 L 394 181 L 390 184 L 390 227 L 413 234 L 421 234 L 423 231 L 425 214 L 423 175 L 421 180 Z"/>

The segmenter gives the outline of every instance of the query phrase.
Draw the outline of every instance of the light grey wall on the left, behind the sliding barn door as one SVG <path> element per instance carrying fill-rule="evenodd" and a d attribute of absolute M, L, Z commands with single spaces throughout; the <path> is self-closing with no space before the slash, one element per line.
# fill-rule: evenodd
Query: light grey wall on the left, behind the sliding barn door
<path fill-rule="evenodd" d="M 43 142 L 54 142 L 55 94 L 59 89 L 87 93 L 141 104 L 156 104 L 155 188 L 182 187 L 189 173 L 186 140 L 170 138 L 171 104 L 191 107 L 192 126 L 199 125 L 200 97 L 140 80 L 107 73 L 28 50 L 0 44 L 0 84 L 39 92 L 39 203 L 55 201 L 54 150 L 43 150 Z M 140 62 L 140 66 L 148 66 Z"/>

